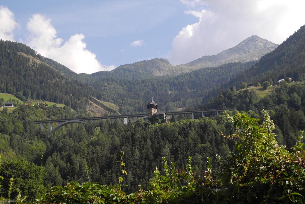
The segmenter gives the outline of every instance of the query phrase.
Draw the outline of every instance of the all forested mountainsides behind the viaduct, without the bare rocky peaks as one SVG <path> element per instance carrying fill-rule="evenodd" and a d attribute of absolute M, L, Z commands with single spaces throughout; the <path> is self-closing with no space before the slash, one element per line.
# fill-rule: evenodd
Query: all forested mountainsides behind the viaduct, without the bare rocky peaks
<path fill-rule="evenodd" d="M 216 95 L 219 87 L 238 87 L 242 81 L 257 83 L 270 80 L 275 83 L 286 76 L 299 79 L 305 69 L 304 36 L 302 27 L 257 64 L 256 61 L 228 63 L 176 76 L 151 76 L 147 72 L 123 68 L 91 75 L 76 74 L 51 59 L 36 55 L 34 50 L 21 43 L 1 41 L 1 69 L 8 77 L 1 78 L 0 91 L 21 98 L 64 103 L 74 109 L 85 109 L 92 96 L 115 104 L 121 114 L 146 112 L 145 104 L 152 96 L 159 102 L 160 109 L 166 111 L 193 109 L 208 100 L 210 95 Z M 258 37 L 253 38 L 257 42 Z M 31 62 L 18 53 L 30 55 L 43 63 Z"/>

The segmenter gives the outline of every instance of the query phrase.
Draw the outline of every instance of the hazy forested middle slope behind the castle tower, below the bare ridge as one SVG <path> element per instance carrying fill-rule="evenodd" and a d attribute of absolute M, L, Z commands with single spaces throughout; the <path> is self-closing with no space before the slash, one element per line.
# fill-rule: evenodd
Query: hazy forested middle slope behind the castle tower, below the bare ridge
<path fill-rule="evenodd" d="M 198 69 L 177 76 L 152 76 L 131 79 L 113 74 L 105 77 L 92 74 L 96 90 L 102 91 L 102 100 L 120 106 L 120 113 L 146 112 L 146 103 L 153 96 L 163 110 L 192 108 L 201 103 L 206 94 L 217 94 L 217 87 L 255 64 L 229 63 L 219 67 Z"/>

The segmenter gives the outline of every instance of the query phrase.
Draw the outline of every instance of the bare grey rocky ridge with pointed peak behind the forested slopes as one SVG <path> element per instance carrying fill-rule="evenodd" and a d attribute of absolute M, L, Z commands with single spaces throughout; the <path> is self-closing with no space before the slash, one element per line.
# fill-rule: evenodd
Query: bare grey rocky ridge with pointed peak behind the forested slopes
<path fill-rule="evenodd" d="M 271 52 L 278 45 L 260 38 L 257 35 L 243 40 L 241 43 L 217 55 L 200 57 L 182 65 L 171 65 L 167 59 L 155 58 L 143 60 L 133 64 L 120 65 L 116 69 L 129 69 L 135 72 L 147 72 L 155 76 L 180 74 L 206 67 L 217 67 L 230 62 L 249 62 L 259 60 L 264 54 Z"/>

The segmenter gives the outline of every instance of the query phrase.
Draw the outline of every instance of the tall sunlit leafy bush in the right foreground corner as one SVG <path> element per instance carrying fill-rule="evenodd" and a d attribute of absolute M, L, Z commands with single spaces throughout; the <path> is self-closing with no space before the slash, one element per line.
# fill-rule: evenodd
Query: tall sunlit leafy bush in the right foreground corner
<path fill-rule="evenodd" d="M 299 141 L 290 151 L 278 146 L 273 121 L 264 111 L 264 122 L 246 114 L 231 117 L 238 137 L 234 152 L 222 160 L 223 202 L 304 203 L 305 151 Z"/>

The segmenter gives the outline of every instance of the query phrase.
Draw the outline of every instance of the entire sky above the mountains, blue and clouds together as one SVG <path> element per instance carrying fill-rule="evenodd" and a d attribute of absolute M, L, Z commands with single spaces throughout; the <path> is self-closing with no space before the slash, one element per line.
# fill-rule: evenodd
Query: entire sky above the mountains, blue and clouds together
<path fill-rule="evenodd" d="M 2 0 L 0 5 L 0 18 L 8 22 L 0 25 L 0 38 L 87 73 L 156 57 L 187 63 L 251 35 L 280 44 L 305 24 L 299 0 Z"/>

